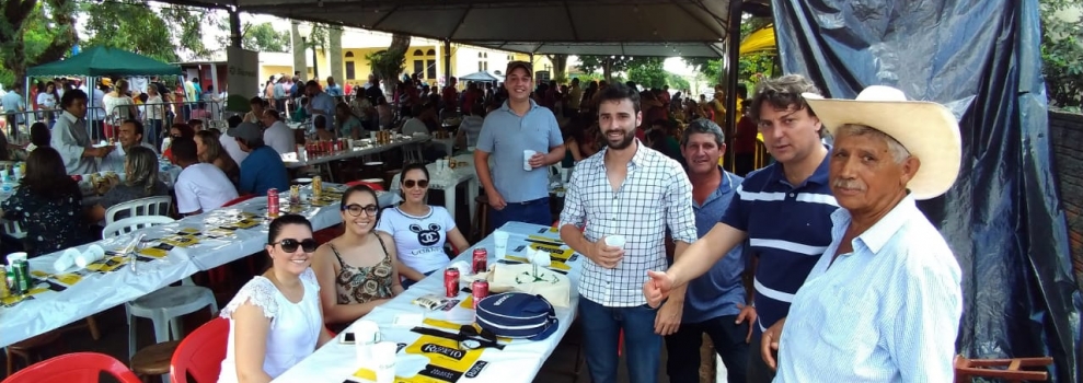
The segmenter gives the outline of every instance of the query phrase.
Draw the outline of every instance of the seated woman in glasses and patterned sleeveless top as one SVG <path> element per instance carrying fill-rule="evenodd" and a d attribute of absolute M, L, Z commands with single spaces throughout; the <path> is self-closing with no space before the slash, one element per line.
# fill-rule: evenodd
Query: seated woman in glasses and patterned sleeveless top
<path fill-rule="evenodd" d="M 341 214 L 345 232 L 312 255 L 320 281 L 324 321 L 339 330 L 403 291 L 394 239 L 377 232 L 380 205 L 366 185 L 343 193 Z M 336 326 L 337 325 L 337 326 Z"/>

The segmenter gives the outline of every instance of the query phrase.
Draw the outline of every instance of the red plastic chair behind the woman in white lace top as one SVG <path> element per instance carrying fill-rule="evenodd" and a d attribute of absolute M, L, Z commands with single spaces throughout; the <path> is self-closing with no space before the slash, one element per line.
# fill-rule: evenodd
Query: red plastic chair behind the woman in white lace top
<path fill-rule="evenodd" d="M 217 382 L 229 343 L 229 320 L 216 317 L 184 337 L 170 361 L 170 381 Z"/>

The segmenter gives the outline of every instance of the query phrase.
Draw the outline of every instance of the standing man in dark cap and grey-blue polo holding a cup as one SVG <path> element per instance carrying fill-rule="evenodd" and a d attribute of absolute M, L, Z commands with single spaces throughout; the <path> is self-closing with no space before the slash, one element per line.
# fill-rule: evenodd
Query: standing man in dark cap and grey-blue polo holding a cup
<path fill-rule="evenodd" d="M 509 97 L 482 124 L 474 170 L 493 208 L 492 229 L 508 221 L 549 225 L 553 222 L 549 210 L 549 165 L 564 159 L 564 138 L 553 112 L 530 100 L 530 63 L 511 61 L 506 73 L 504 86 Z M 534 151 L 529 159 L 525 158 L 527 150 Z M 492 173 L 489 155 L 494 156 Z"/>

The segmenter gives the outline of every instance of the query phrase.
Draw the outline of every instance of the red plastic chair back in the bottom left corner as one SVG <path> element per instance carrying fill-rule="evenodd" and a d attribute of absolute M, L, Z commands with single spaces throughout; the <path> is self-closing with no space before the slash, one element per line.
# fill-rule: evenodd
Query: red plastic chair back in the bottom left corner
<path fill-rule="evenodd" d="M 141 383 L 119 360 L 97 352 L 72 352 L 35 363 L 19 371 L 4 383 L 81 383 L 97 382 L 106 372 L 120 383 Z"/>

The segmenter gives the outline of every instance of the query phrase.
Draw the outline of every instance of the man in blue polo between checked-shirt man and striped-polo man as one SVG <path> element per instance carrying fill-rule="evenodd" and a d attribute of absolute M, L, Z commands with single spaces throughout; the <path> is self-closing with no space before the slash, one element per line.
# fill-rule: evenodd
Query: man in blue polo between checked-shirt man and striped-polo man
<path fill-rule="evenodd" d="M 681 154 L 692 182 L 698 237 L 718 223 L 744 181 L 718 165 L 718 159 L 726 153 L 725 142 L 722 128 L 706 118 L 693 120 L 681 137 Z M 690 281 L 683 298 L 671 295 L 659 309 L 656 326 L 666 335 L 666 372 L 670 382 L 699 381 L 700 346 L 706 334 L 726 364 L 728 382 L 746 383 L 748 341 L 756 311 L 749 306 L 750 297 L 741 281 L 744 253 L 745 245 L 737 245 L 706 274 Z"/>

